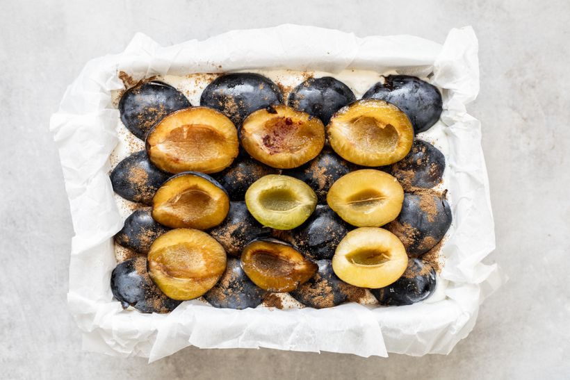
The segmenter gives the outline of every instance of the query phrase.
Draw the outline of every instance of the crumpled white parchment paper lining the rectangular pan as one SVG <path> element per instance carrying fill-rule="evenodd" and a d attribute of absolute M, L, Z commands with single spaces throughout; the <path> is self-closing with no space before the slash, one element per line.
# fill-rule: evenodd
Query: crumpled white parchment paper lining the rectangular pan
<path fill-rule="evenodd" d="M 496 265 L 481 263 L 495 247 L 480 123 L 466 113 L 479 90 L 478 42 L 470 27 L 450 31 L 443 45 L 409 35 L 357 38 L 311 26 L 232 31 L 205 41 L 161 47 L 137 34 L 123 53 L 91 60 L 67 88 L 51 117 L 75 236 L 70 263 L 70 310 L 83 348 L 115 356 L 163 358 L 188 345 L 203 348 L 270 347 L 360 356 L 446 354 L 465 338 L 480 303 L 503 282 Z M 186 301 L 168 315 L 123 311 L 109 286 L 116 265 L 113 235 L 122 217 L 108 178 L 117 144 L 118 110 L 111 91 L 117 72 L 135 80 L 154 75 L 243 69 L 340 72 L 366 69 L 428 75 L 443 89 L 441 126 L 446 188 L 453 226 L 442 254 L 444 299 L 411 306 L 236 311 Z M 428 132 L 429 133 L 429 132 Z"/>

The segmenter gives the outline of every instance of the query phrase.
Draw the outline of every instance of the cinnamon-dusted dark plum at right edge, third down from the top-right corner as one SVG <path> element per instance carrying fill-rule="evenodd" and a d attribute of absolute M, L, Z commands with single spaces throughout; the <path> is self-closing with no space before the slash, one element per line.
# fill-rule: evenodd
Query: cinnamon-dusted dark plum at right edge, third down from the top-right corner
<path fill-rule="evenodd" d="M 406 192 L 400 215 L 386 227 L 406 248 L 410 257 L 418 257 L 435 247 L 451 225 L 448 201 L 435 192 Z"/>

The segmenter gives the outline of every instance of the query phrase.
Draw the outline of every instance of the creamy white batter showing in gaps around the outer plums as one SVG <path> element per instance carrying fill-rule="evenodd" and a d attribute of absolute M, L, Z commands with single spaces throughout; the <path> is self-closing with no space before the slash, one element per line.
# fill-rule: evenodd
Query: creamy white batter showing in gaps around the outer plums
<path fill-rule="evenodd" d="M 297 85 L 302 83 L 307 79 L 309 76 L 314 76 L 316 78 L 320 78 L 322 76 L 332 76 L 339 81 L 348 85 L 350 90 L 354 92 L 357 99 L 360 99 L 364 92 L 366 92 L 369 88 L 372 87 L 375 83 L 379 81 L 383 81 L 383 76 L 387 76 L 389 74 L 398 74 L 396 70 L 389 70 L 386 72 L 372 72 L 366 70 L 357 70 L 357 69 L 345 69 L 341 72 L 332 74 L 329 72 L 299 72 L 293 70 L 269 70 L 269 69 L 252 69 L 252 70 L 242 70 L 242 72 L 254 72 L 261 74 L 263 76 L 268 77 L 280 88 L 282 88 L 284 92 L 284 101 L 286 101 L 288 97 L 288 93 L 293 90 Z M 193 106 L 199 106 L 200 95 L 204 88 L 206 88 L 211 81 L 215 78 L 220 76 L 221 74 L 204 74 L 204 73 L 197 73 L 197 74 L 188 74 L 187 76 L 173 76 L 173 75 L 166 75 L 166 76 L 156 76 L 153 79 L 156 81 L 163 81 L 164 83 L 168 83 L 172 85 L 174 88 L 177 88 L 180 92 L 182 92 L 186 98 L 190 101 L 190 104 Z M 421 78 L 424 81 L 428 81 L 427 78 Z M 118 106 L 120 97 L 122 95 L 122 91 L 113 91 L 113 104 L 115 107 Z M 449 145 L 448 145 L 448 138 L 446 136 L 446 128 L 445 124 L 441 122 L 437 122 L 432 126 L 428 131 L 423 133 L 419 133 L 416 135 L 417 138 L 421 140 L 425 140 L 430 142 L 437 147 L 446 157 L 446 165 L 448 164 L 448 154 L 449 154 Z M 115 131 L 117 131 L 117 137 L 119 142 L 117 146 L 113 150 L 111 154 L 111 167 L 114 168 L 117 163 L 121 160 L 126 158 L 127 156 L 133 154 L 136 151 L 140 151 L 145 149 L 145 143 L 136 138 L 125 126 L 122 124 L 120 118 L 117 118 L 117 125 L 115 127 Z M 448 176 L 449 170 L 445 170 L 443 172 L 443 181 L 438 185 L 436 190 L 444 190 L 446 188 L 446 183 L 448 183 Z M 119 195 L 115 194 L 115 201 L 117 202 L 117 206 L 120 210 L 120 213 L 124 219 L 126 219 L 134 210 L 140 208 L 140 204 L 136 204 L 131 201 L 127 201 L 123 199 Z M 453 222 L 452 222 L 453 224 Z M 446 238 L 443 238 L 444 240 Z M 445 244 L 445 241 L 443 242 Z M 117 261 L 122 261 L 125 257 L 125 249 L 120 247 L 120 245 L 115 244 L 115 256 L 117 256 Z M 443 263 L 441 263 L 443 265 Z M 426 299 L 425 303 L 434 303 L 437 301 L 441 301 L 442 299 L 446 298 L 445 292 L 447 288 L 448 281 L 443 280 L 439 274 L 437 274 L 437 288 L 435 289 L 434 293 Z M 277 294 L 282 299 L 282 304 L 284 308 L 302 308 L 304 307 L 298 301 L 293 299 L 291 295 L 288 293 L 279 293 Z M 200 297 L 202 299 L 202 297 Z M 202 299 L 203 300 L 203 299 Z M 206 302 L 205 300 L 203 300 Z M 369 292 L 366 291 L 366 297 L 359 301 L 360 304 L 377 304 L 377 300 L 375 297 Z"/>

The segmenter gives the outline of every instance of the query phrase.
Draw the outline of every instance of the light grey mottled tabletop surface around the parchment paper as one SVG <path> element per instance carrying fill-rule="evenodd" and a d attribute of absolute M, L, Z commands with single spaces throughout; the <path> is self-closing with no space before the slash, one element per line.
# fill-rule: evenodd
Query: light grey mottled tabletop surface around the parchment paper
<path fill-rule="evenodd" d="M 570 377 L 568 1 L 0 0 L 0 16 L 0 377 Z M 482 85 L 469 110 L 483 125 L 498 247 L 488 262 L 510 282 L 448 356 L 188 348 L 147 365 L 81 352 L 65 302 L 72 224 L 48 131 L 65 87 L 137 31 L 173 44 L 285 22 L 438 42 L 475 28 Z"/>

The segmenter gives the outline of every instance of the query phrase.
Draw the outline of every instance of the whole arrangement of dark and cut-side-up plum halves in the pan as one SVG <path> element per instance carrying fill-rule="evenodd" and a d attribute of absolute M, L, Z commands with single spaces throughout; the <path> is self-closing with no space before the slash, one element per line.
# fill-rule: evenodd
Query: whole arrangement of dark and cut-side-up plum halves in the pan
<path fill-rule="evenodd" d="M 219 76 L 193 105 L 161 81 L 129 88 L 122 123 L 145 150 L 111 172 L 138 202 L 115 236 L 136 254 L 111 290 L 124 308 L 167 313 L 204 297 L 254 308 L 288 292 L 305 306 L 364 289 L 407 305 L 436 287 L 425 254 L 451 224 L 445 158 L 415 137 L 441 115 L 437 88 L 390 75 L 362 99 L 330 76 L 284 99 L 260 74 Z"/>

